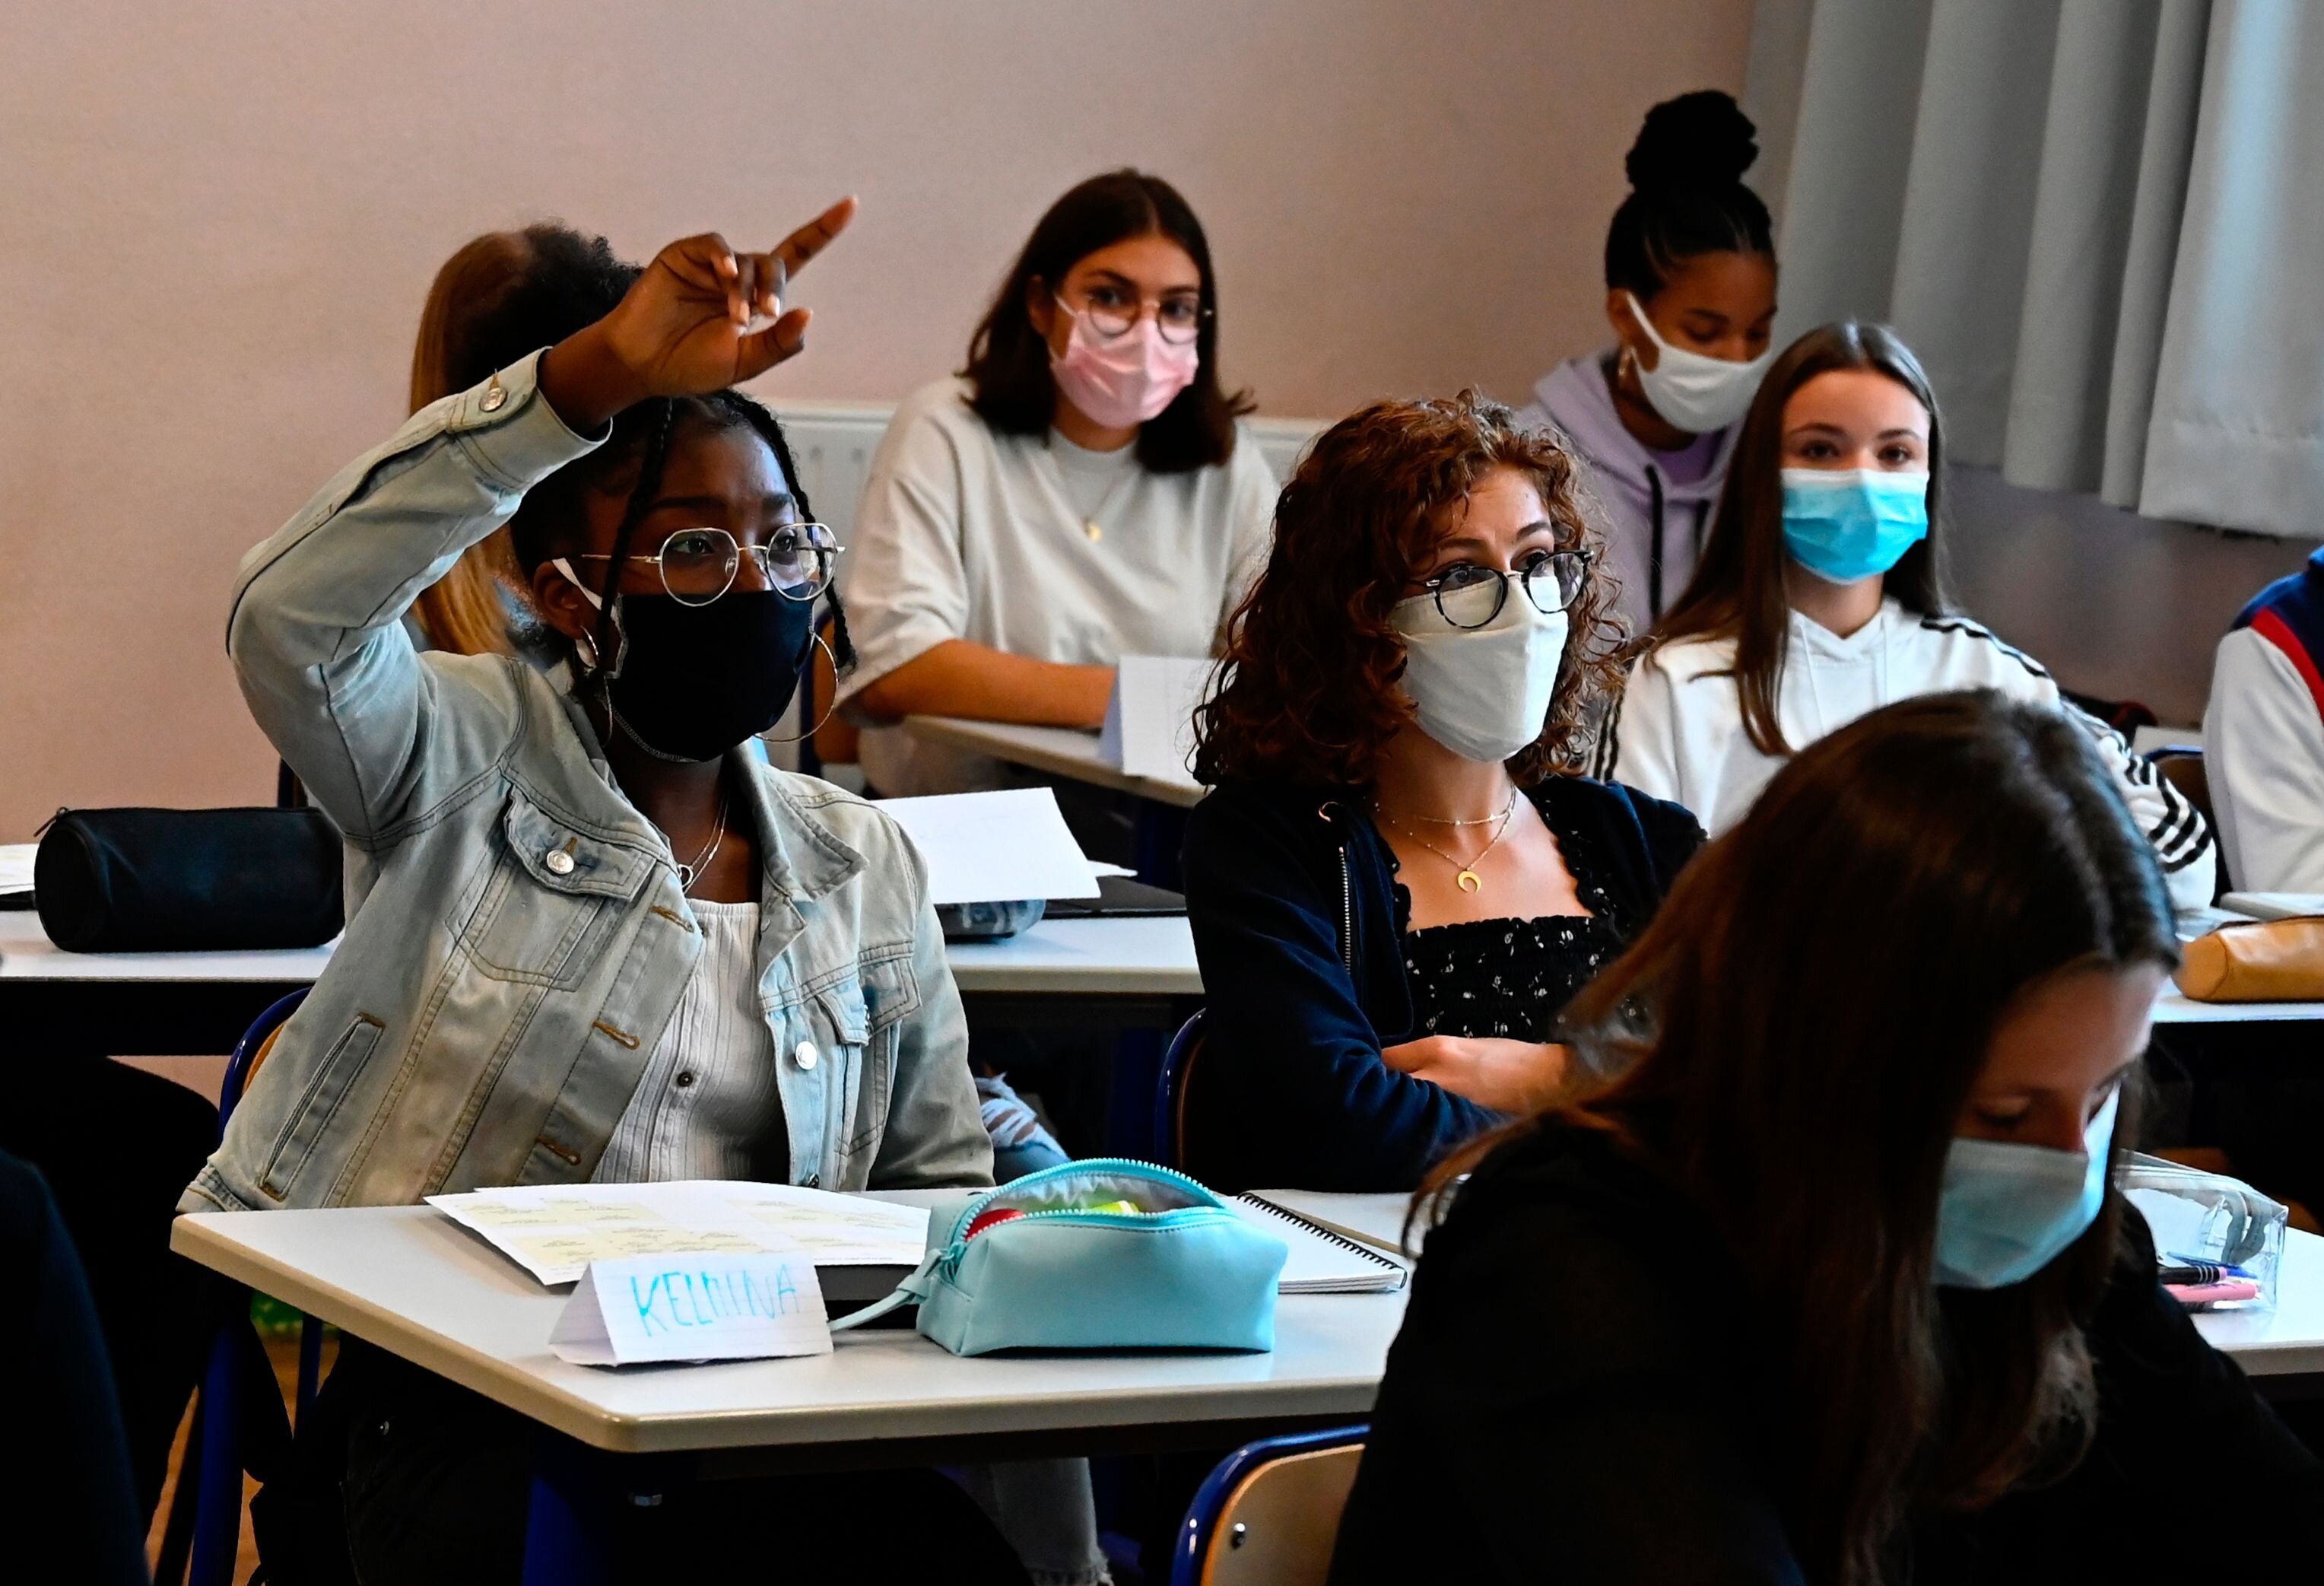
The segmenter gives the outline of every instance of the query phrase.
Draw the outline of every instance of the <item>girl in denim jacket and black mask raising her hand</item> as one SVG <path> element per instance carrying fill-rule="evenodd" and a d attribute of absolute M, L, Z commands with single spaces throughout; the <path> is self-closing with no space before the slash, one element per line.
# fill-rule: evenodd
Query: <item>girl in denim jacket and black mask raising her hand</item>
<path fill-rule="evenodd" d="M 560 340 L 497 349 L 246 558 L 228 649 L 346 833 L 351 909 L 184 1209 L 990 1181 L 920 858 L 748 746 L 790 705 L 834 553 L 781 428 L 732 386 L 799 351 L 806 312 L 776 293 L 851 214 L 767 253 L 539 256 L 535 284 L 579 305 Z M 504 523 L 569 688 L 404 633 Z M 360 1579 L 516 1577 L 521 1416 L 353 1344 L 325 1398 Z M 1023 1579 L 934 1472 L 706 1491 L 637 1523 L 702 1565 L 762 1558 L 774 1516 L 799 1567 L 916 1579 L 892 1539 L 946 1535 L 964 1577 Z"/>

